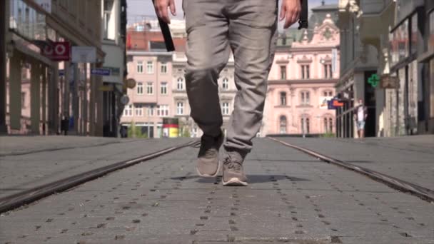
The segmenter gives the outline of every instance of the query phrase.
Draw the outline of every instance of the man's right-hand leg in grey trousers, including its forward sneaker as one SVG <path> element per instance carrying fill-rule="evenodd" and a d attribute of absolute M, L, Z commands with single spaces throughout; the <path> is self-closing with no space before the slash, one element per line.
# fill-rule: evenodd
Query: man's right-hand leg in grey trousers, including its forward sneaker
<path fill-rule="evenodd" d="M 277 0 L 232 1 L 228 7 L 229 42 L 238 92 L 224 144 L 223 185 L 247 185 L 243 161 L 253 146 L 252 138 L 261 128 L 277 10 Z"/>

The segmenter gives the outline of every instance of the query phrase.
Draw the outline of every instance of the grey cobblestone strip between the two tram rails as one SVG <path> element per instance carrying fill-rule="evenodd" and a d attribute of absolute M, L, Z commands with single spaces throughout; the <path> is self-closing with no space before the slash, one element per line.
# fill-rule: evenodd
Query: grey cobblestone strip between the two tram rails
<path fill-rule="evenodd" d="M 433 204 L 281 143 L 255 141 L 245 188 L 198 178 L 196 153 L 183 148 L 6 213 L 0 243 L 434 243 Z"/>

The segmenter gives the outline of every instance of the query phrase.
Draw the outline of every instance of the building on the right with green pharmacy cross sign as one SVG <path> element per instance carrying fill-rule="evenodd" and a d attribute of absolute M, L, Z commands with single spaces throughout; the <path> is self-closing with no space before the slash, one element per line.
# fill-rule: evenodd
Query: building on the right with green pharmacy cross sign
<path fill-rule="evenodd" d="M 365 136 L 433 133 L 432 12 L 432 1 L 339 1 L 338 136 L 357 135 L 360 98 L 368 106 Z"/>

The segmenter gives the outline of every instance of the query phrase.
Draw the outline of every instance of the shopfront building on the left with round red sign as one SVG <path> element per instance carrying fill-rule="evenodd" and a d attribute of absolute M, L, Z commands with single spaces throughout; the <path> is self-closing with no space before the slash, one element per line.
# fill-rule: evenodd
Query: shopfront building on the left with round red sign
<path fill-rule="evenodd" d="M 6 0 L 2 6 L 6 83 L 1 86 L 6 87 L 6 101 L 0 103 L 5 112 L 0 121 L 6 122 L 7 133 L 59 133 L 61 119 L 68 117 L 69 133 L 102 136 L 101 77 L 91 76 L 91 68 L 101 66 L 105 56 L 101 1 Z M 93 47 L 96 60 L 59 61 L 48 55 L 56 42 Z M 66 54 L 66 46 L 56 54 Z"/>

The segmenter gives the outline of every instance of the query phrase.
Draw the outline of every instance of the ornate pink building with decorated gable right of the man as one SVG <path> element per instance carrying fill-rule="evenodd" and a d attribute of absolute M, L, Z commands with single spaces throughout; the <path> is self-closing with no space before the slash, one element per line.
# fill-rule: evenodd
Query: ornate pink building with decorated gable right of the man
<path fill-rule="evenodd" d="M 311 22 L 313 29 L 279 36 L 261 135 L 335 132 L 335 111 L 328 110 L 327 101 L 335 96 L 339 78 L 339 29 L 330 15 L 333 7 L 319 10 L 313 9 L 320 22 Z"/>

